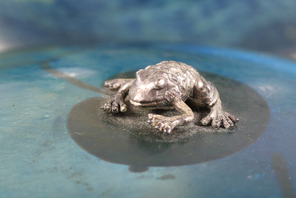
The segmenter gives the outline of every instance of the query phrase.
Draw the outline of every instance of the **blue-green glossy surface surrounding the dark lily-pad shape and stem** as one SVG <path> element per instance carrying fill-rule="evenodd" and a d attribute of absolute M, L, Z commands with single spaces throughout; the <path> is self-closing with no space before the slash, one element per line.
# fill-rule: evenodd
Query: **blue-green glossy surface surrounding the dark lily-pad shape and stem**
<path fill-rule="evenodd" d="M 227 157 L 141 173 L 99 159 L 70 138 L 71 108 L 103 95 L 58 78 L 46 64 L 100 87 L 110 76 L 163 60 L 250 86 L 268 103 L 266 130 Z M 226 49 L 154 45 L 23 50 L 2 54 L 0 65 L 1 197 L 292 197 L 296 192 L 293 62 Z"/>

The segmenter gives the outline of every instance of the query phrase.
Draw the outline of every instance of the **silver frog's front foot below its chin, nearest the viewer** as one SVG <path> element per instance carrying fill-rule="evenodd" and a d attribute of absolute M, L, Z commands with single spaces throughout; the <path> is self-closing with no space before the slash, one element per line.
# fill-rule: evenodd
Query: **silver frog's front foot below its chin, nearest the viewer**
<path fill-rule="evenodd" d="M 165 117 L 157 114 L 148 114 L 148 118 L 149 119 L 147 122 L 152 127 L 168 134 L 170 134 L 173 128 L 175 128 L 179 124 L 178 120 L 174 120 L 170 117 Z"/>

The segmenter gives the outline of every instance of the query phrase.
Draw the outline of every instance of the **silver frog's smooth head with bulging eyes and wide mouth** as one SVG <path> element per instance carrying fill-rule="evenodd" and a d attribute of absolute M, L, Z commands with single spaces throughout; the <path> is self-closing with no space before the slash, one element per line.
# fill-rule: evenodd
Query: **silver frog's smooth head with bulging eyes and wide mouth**
<path fill-rule="evenodd" d="M 168 90 L 167 73 L 160 70 L 143 70 L 136 72 L 136 80 L 130 90 L 130 102 L 141 108 L 159 108 L 168 105 L 165 95 Z"/>

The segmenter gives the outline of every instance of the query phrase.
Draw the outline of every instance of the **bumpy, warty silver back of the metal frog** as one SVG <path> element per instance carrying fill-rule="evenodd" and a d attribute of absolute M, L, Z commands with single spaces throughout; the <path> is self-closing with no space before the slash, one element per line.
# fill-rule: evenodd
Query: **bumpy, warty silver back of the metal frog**
<path fill-rule="evenodd" d="M 162 61 L 156 65 L 147 66 L 145 68 L 145 70 L 148 69 L 166 72 L 171 82 L 178 87 L 183 87 L 185 90 L 194 87 L 195 82 L 199 78 L 199 73 L 192 66 L 175 61 Z"/>

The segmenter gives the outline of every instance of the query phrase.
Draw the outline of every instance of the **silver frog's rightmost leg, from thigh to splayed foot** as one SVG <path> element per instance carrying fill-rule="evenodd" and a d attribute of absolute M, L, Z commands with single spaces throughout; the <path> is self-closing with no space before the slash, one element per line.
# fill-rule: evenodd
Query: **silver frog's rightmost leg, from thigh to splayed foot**
<path fill-rule="evenodd" d="M 218 128 L 222 124 L 226 129 L 233 127 L 239 119 L 228 112 L 222 110 L 221 100 L 216 87 L 200 76 L 196 86 L 196 101 L 200 104 L 208 106 L 210 113 L 201 120 L 203 125 L 207 125 L 212 121 L 212 127 Z"/>

